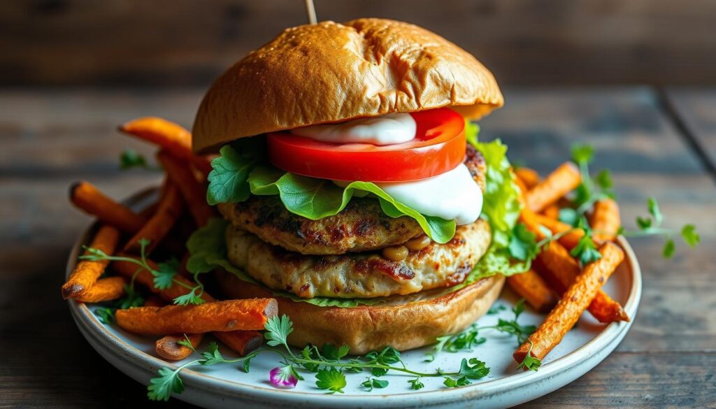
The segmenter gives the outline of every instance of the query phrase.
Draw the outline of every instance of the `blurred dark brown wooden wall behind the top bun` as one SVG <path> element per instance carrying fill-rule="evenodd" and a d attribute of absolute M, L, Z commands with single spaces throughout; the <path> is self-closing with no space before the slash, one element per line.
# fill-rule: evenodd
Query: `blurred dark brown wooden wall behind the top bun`
<path fill-rule="evenodd" d="M 501 85 L 716 85 L 715 0 L 315 0 L 319 20 L 401 19 Z M 1 86 L 205 86 L 301 0 L 2 0 Z"/>

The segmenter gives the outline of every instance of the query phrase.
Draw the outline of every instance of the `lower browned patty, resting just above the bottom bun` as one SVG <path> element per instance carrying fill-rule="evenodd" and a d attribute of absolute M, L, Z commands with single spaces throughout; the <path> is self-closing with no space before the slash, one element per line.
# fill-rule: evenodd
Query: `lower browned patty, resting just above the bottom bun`
<path fill-rule="evenodd" d="M 459 226 L 452 240 L 432 243 L 402 261 L 379 253 L 316 256 L 272 246 L 256 235 L 228 226 L 231 264 L 271 289 L 299 297 L 372 298 L 451 287 L 465 280 L 491 239 L 487 221 Z"/>

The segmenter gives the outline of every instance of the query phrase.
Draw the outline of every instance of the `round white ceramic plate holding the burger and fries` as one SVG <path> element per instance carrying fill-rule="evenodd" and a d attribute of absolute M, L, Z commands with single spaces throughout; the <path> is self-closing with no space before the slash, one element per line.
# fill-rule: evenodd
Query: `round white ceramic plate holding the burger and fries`
<path fill-rule="evenodd" d="M 153 191 L 138 193 L 129 203 L 141 208 L 152 196 Z M 91 228 L 87 228 L 69 254 L 67 274 L 72 271 L 82 244 L 87 242 L 89 231 Z M 627 257 L 609 279 L 604 290 L 621 302 L 633 320 L 637 315 L 642 292 L 642 275 L 631 246 L 623 238 L 619 239 L 619 244 L 624 248 Z M 515 302 L 514 294 L 505 290 L 495 305 L 501 304 L 508 308 L 498 314 L 485 315 L 478 321 L 479 324 L 493 324 L 499 317 L 511 319 L 513 315 L 509 307 Z M 116 326 L 102 324 L 92 313 L 91 306 L 70 301 L 69 309 L 89 344 L 117 369 L 138 382 L 146 385 L 160 367 L 175 368 L 175 363 L 165 362 L 153 355 L 154 338 L 140 337 L 124 332 Z M 528 308 L 519 322 L 539 324 L 541 319 L 543 315 L 533 313 Z M 410 390 L 407 380 L 413 379 L 412 377 L 393 375 L 391 372 L 381 378 L 390 381 L 387 388 L 367 392 L 360 386 L 367 377 L 367 372 L 364 372 L 347 374 L 348 387 L 343 394 L 327 395 L 316 388 L 310 374 L 306 376 L 306 380 L 300 381 L 296 388 L 279 390 L 269 382 L 269 370 L 279 366 L 277 356 L 266 354 L 251 361 L 249 373 L 239 370 L 238 364 L 188 367 L 181 375 L 185 391 L 176 395 L 176 398 L 206 408 L 280 405 L 307 408 L 504 408 L 546 395 L 584 375 L 619 345 L 630 326 L 631 322 L 599 324 L 589 314 L 583 314 L 576 328 L 572 329 L 543 361 L 538 372 L 516 370 L 512 359 L 512 352 L 517 347 L 516 341 L 512 337 L 495 332 L 481 333 L 488 341 L 475 347 L 472 352 L 443 352 L 430 363 L 424 362 L 425 353 L 430 352 L 430 347 L 403 352 L 402 357 L 408 367 L 425 372 L 432 372 L 437 367 L 455 370 L 460 367 L 463 357 L 477 357 L 485 361 L 491 369 L 490 374 L 463 388 L 446 389 L 442 385 L 442 377 L 423 377 L 421 381 L 425 388 Z M 198 350 L 203 350 L 207 342 Z M 226 348 L 222 348 L 222 351 L 224 355 L 233 357 Z M 176 363 L 180 365 L 182 361 Z"/>

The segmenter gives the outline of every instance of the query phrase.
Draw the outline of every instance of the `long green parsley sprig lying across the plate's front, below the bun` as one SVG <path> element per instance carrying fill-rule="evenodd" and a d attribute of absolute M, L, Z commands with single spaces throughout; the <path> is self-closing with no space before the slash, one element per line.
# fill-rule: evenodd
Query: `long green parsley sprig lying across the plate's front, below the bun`
<path fill-rule="evenodd" d="M 411 370 L 405 365 L 405 362 L 402 362 L 400 352 L 392 347 L 384 347 L 380 351 L 369 352 L 367 355 L 354 357 L 350 360 L 343 359 L 349 352 L 349 347 L 345 345 L 341 347 L 324 345 L 320 351 L 315 346 L 307 346 L 301 350 L 301 353 L 296 354 L 291 351 L 286 342 L 289 334 L 293 332 L 293 323 L 289 317 L 283 315 L 271 318 L 266 322 L 265 328 L 266 334 L 264 337 L 266 337 L 266 343 L 269 347 L 256 350 L 245 357 L 236 359 L 223 357 L 216 342 L 211 342 L 205 352 L 198 352 L 191 345 L 188 338 L 180 341 L 181 345 L 191 348 L 193 352 L 199 354 L 200 359 L 187 362 L 175 370 L 166 367 L 160 369 L 157 373 L 158 376 L 150 380 L 150 385 L 147 387 L 147 396 L 151 400 L 168 400 L 172 393 L 181 393 L 184 390 L 184 386 L 180 378 L 180 372 L 185 367 L 241 362 L 242 369 L 248 372 L 251 359 L 262 353 L 279 355 L 279 361 L 282 366 L 278 369 L 281 371 L 282 380 L 293 378 L 291 380 L 297 382 L 304 379 L 300 372 L 313 372 L 316 379 L 316 388 L 326 390 L 326 393 L 343 393 L 343 389 L 347 386 L 345 372 L 370 372 L 367 380 L 361 383 L 368 390 L 387 387 L 387 380 L 377 378 L 385 375 L 388 371 L 411 375 L 413 378 L 407 382 L 413 390 L 424 387 L 420 382 L 422 377 L 445 377 L 445 385 L 449 388 L 455 388 L 468 385 L 471 382 L 470 380 L 480 379 L 490 373 L 490 368 L 485 366 L 485 362 L 477 358 L 463 359 L 460 362 L 460 369 L 455 372 L 445 372 L 440 369 L 435 370 L 435 372 Z"/>

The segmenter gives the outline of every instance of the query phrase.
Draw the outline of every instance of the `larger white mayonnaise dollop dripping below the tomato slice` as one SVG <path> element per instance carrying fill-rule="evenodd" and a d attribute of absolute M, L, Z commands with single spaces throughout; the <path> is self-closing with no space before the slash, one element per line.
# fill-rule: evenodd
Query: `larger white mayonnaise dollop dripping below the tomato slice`
<path fill-rule="evenodd" d="M 376 185 L 405 206 L 458 225 L 474 223 L 483 209 L 483 192 L 463 163 L 422 181 Z"/>

